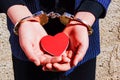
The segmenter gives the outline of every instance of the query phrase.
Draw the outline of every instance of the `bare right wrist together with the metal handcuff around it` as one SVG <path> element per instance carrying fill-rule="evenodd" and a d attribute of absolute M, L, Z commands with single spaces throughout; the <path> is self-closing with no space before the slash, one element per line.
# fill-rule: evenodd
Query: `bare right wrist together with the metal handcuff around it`
<path fill-rule="evenodd" d="M 88 34 L 91 35 L 93 32 L 91 26 L 95 21 L 95 17 L 89 12 L 78 12 L 75 16 L 69 13 L 64 13 L 60 20 L 66 26 L 83 25 L 87 28 Z"/>

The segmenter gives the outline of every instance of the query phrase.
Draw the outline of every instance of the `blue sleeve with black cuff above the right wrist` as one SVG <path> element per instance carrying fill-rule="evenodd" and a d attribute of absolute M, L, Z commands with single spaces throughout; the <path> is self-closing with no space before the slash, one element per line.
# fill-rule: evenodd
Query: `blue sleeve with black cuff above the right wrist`
<path fill-rule="evenodd" d="M 104 18 L 110 2 L 111 0 L 76 0 L 76 11 L 91 12 L 96 19 Z"/>

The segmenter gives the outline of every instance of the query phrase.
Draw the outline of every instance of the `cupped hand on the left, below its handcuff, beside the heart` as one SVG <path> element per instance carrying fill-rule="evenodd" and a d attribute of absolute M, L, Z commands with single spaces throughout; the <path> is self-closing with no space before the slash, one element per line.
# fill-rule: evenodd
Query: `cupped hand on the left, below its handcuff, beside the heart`
<path fill-rule="evenodd" d="M 20 46 L 28 59 L 37 66 L 61 61 L 61 57 L 52 57 L 42 51 L 39 42 L 45 35 L 46 31 L 38 22 L 27 21 L 19 28 Z"/>

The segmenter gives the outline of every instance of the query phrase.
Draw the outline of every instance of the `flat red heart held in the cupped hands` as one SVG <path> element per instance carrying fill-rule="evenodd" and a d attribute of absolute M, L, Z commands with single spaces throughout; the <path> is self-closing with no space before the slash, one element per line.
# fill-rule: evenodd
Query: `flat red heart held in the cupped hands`
<path fill-rule="evenodd" d="M 40 41 L 43 50 L 54 56 L 60 56 L 67 49 L 68 44 L 69 38 L 63 32 L 55 36 L 44 36 Z"/>

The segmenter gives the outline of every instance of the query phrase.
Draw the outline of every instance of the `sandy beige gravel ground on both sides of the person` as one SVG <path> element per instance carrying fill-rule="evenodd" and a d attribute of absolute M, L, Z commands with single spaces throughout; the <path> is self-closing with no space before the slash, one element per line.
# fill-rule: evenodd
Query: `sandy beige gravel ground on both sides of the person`
<path fill-rule="evenodd" d="M 120 80 L 120 0 L 112 0 L 100 20 L 101 54 L 97 58 L 96 80 Z M 14 80 L 6 15 L 0 14 L 0 80 Z"/>

